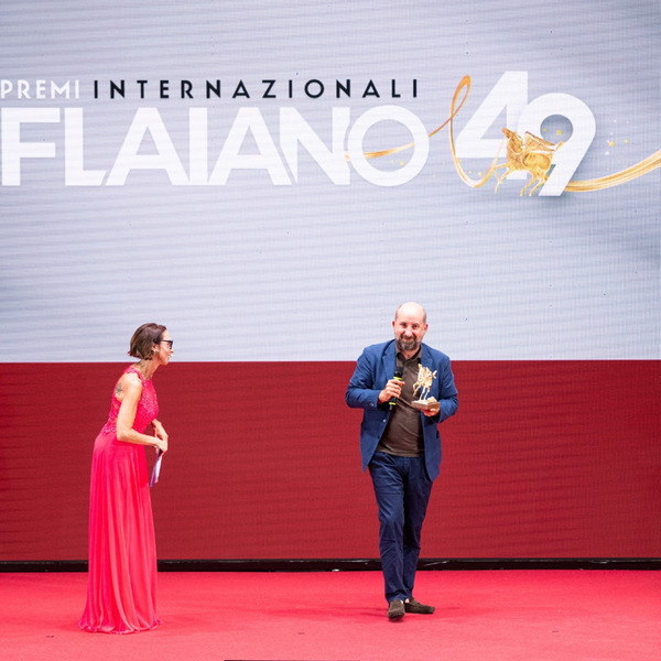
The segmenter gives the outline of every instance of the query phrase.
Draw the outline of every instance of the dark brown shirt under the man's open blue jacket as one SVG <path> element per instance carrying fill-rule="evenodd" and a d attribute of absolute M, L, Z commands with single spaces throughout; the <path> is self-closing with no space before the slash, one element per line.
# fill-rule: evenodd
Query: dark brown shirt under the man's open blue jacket
<path fill-rule="evenodd" d="M 418 381 L 420 350 L 410 360 L 397 355 L 397 365 L 403 367 L 402 393 L 390 411 L 388 426 L 379 441 L 377 452 L 384 452 L 400 457 L 421 457 L 424 455 L 422 421 L 420 411 L 411 405 L 413 401 L 413 383 Z"/>

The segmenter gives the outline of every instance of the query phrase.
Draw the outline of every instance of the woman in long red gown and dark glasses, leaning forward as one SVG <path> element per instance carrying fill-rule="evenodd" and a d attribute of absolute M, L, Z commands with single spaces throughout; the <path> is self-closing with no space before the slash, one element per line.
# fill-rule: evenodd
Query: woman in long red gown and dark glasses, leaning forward
<path fill-rule="evenodd" d="M 144 324 L 131 338 L 129 366 L 115 387 L 108 422 L 94 444 L 89 489 L 89 578 L 78 626 L 85 631 L 133 633 L 154 629 L 156 544 L 145 445 L 167 451 L 156 420 L 152 377 L 173 354 L 165 326 Z M 148 425 L 153 436 L 144 433 Z"/>

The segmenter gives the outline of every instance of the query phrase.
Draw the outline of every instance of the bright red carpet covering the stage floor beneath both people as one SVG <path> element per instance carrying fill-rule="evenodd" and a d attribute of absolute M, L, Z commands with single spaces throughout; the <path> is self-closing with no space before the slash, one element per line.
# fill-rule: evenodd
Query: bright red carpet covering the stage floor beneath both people
<path fill-rule="evenodd" d="M 4 661 L 657 661 L 661 574 L 420 572 L 389 622 L 378 572 L 161 573 L 155 631 L 84 633 L 86 574 L 0 574 Z"/>

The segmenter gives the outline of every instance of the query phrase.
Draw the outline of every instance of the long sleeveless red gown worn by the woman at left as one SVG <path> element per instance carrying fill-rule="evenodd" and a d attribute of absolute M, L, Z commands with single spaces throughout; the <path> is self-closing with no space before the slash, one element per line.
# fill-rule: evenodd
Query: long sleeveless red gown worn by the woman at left
<path fill-rule="evenodd" d="M 142 381 L 133 429 L 144 432 L 158 415 L 151 379 Z M 133 633 L 154 629 L 156 544 L 145 447 L 117 438 L 120 402 L 112 394 L 108 422 L 94 444 L 89 489 L 89 577 L 87 605 L 78 626 L 85 631 Z"/>

